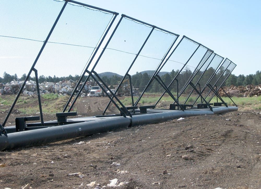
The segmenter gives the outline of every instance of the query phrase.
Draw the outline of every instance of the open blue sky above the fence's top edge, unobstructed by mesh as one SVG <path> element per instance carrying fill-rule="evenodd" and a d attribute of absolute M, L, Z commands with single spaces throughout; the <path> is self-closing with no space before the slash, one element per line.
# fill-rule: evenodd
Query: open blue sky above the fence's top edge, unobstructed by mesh
<path fill-rule="evenodd" d="M 237 64 L 233 71 L 235 75 L 254 74 L 261 70 L 261 1 L 79 2 L 126 14 L 181 36 L 186 35 Z"/>

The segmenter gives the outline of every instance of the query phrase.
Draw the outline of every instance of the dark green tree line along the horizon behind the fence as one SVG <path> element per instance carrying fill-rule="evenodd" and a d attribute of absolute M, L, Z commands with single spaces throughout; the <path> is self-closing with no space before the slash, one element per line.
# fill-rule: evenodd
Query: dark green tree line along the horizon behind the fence
<path fill-rule="evenodd" d="M 230 70 L 226 70 L 225 72 L 224 72 L 224 70 L 225 69 L 222 67 L 219 69 L 218 73 L 210 81 L 211 85 L 214 85 L 218 78 L 220 78 L 220 80 L 219 80 L 219 83 L 217 83 L 217 85 L 222 84 L 222 81 L 224 81 L 224 79 L 226 79 L 228 74 L 230 73 Z M 169 84 L 171 83 L 173 78 L 179 72 L 180 72 L 179 70 L 176 70 L 176 71 L 172 70 L 170 73 L 161 75 L 160 79 L 164 82 L 164 84 L 166 86 L 169 86 Z M 214 72 L 215 72 L 215 69 L 212 67 L 208 68 L 204 72 L 203 75 L 202 75 L 203 72 L 198 70 L 198 73 L 194 76 L 192 82 L 194 84 L 196 84 L 198 82 L 201 85 L 201 89 L 202 89 L 202 87 L 204 87 L 205 83 L 207 83 L 207 81 L 209 80 L 209 78 L 212 76 L 212 74 Z M 172 84 L 169 86 L 169 89 L 173 92 L 176 92 L 177 85 L 178 85 L 178 88 L 180 91 L 182 89 L 182 87 L 187 84 L 187 81 L 191 79 L 191 75 L 193 75 L 192 71 L 188 67 L 185 68 L 177 76 L 178 82 L 176 80 L 174 82 L 172 82 Z M 82 81 L 84 81 L 86 79 L 86 77 L 87 76 L 84 76 Z M 119 81 L 122 80 L 122 78 L 123 78 L 123 76 L 113 75 L 111 77 L 103 76 L 102 80 L 108 86 L 111 86 L 111 85 L 117 86 Z M 146 87 L 150 78 L 151 78 L 151 75 L 148 75 L 146 72 L 145 73 L 137 72 L 136 74 L 131 76 L 132 86 L 134 88 L 139 88 L 139 90 L 142 91 Z M 23 74 L 21 78 L 18 78 L 16 74 L 10 75 L 10 74 L 4 72 L 3 77 L 0 77 L 0 83 L 8 83 L 8 82 L 17 81 L 17 80 L 24 81 L 25 79 L 26 79 L 26 74 Z M 29 77 L 29 79 L 35 81 L 35 77 Z M 54 82 L 54 83 L 57 83 L 59 81 L 66 81 L 66 80 L 78 81 L 78 79 L 79 79 L 79 75 L 75 75 L 75 76 L 69 75 L 67 77 L 56 77 L 55 75 L 53 77 L 51 77 L 51 76 L 41 75 L 38 78 L 39 83 L 42 83 L 44 81 Z M 128 79 L 128 76 L 126 76 L 125 79 Z M 93 81 L 92 78 L 89 79 L 89 81 L 91 81 L 91 80 Z M 125 84 L 125 83 L 127 83 L 127 82 L 124 82 L 123 84 Z M 256 71 L 256 74 L 250 74 L 247 76 L 244 76 L 244 75 L 235 76 L 234 74 L 231 74 L 228 77 L 228 79 L 226 80 L 226 82 L 224 82 L 222 84 L 222 86 L 230 86 L 231 84 L 233 84 L 235 86 L 248 85 L 248 84 L 258 85 L 260 83 L 261 83 L 261 71 Z M 190 86 L 188 86 L 187 89 L 191 90 L 192 88 Z M 157 93 L 157 92 L 163 92 L 163 91 L 164 91 L 163 87 L 155 79 L 153 80 L 153 82 L 150 84 L 150 86 L 146 90 L 146 92 L 151 92 L 151 93 Z"/>

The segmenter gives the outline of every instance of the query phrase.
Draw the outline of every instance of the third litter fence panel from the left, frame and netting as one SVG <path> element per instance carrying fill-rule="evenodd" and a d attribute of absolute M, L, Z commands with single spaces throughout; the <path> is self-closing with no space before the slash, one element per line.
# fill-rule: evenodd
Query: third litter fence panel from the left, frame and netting
<path fill-rule="evenodd" d="M 168 94 L 172 96 L 172 99 L 175 100 L 174 102 L 178 102 L 178 96 L 171 92 L 172 89 L 176 89 L 176 87 L 173 87 L 172 85 L 174 81 L 180 75 L 179 86 L 185 87 L 188 81 L 193 77 L 193 75 L 197 73 L 197 69 L 201 68 L 204 65 L 204 62 L 207 60 L 211 53 L 212 50 L 206 48 L 204 45 L 201 45 L 198 42 L 195 42 L 194 40 L 183 36 L 181 41 L 177 44 L 177 46 L 164 61 L 164 63 L 159 65 L 155 74 L 151 77 L 150 82 L 147 84 L 147 87 L 140 95 L 139 99 L 135 102 L 135 105 L 139 102 L 142 95 L 156 78 L 158 78 L 158 82 L 162 83 L 162 86 L 165 86 L 165 88 L 168 89 Z M 174 71 L 174 69 L 177 70 Z M 164 78 L 160 78 L 160 73 L 163 71 L 169 71 L 171 78 L 163 81 Z M 166 92 L 167 90 L 163 92 L 159 100 Z M 157 105 L 159 100 L 155 103 L 155 105 Z"/>

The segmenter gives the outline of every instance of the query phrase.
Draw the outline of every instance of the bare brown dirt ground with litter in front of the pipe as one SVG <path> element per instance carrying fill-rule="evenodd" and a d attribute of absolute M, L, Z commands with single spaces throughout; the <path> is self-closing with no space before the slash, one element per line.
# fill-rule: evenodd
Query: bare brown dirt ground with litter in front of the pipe
<path fill-rule="evenodd" d="M 3 151 L 0 188 L 261 188 L 260 122 L 202 115 Z"/>

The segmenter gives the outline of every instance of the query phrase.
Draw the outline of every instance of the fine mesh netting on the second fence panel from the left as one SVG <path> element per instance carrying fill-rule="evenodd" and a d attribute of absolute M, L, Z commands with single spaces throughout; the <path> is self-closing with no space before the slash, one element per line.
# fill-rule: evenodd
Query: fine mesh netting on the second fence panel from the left
<path fill-rule="evenodd" d="M 125 96 L 121 97 L 121 101 L 126 106 L 132 105 L 131 97 L 127 97 L 131 95 L 131 84 L 135 96 L 134 100 L 136 100 L 171 44 L 177 38 L 176 35 L 157 28 L 153 29 L 153 31 L 152 29 L 151 26 L 123 17 L 97 66 L 94 68 L 94 71 L 98 73 L 99 77 L 110 89 L 118 88 L 118 96 Z M 142 48 L 145 41 L 146 43 Z M 140 54 L 136 57 L 139 51 Z M 110 74 L 109 77 L 108 74 Z M 130 83 L 129 77 L 126 76 L 122 84 L 120 84 L 126 74 L 131 76 L 132 83 Z M 113 105 L 111 104 L 111 106 Z M 108 113 L 112 112 L 109 111 Z"/>

